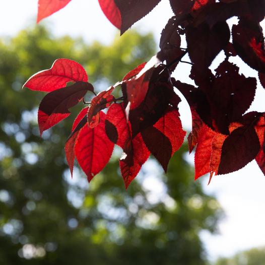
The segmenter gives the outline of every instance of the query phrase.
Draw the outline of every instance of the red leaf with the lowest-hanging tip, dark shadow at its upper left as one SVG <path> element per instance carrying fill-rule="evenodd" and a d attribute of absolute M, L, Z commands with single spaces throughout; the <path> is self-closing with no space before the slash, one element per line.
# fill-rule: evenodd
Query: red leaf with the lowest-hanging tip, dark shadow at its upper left
<path fill-rule="evenodd" d="M 150 156 L 150 152 L 147 149 L 143 141 L 143 138 L 140 134 L 138 134 L 132 140 L 132 149 L 133 149 L 132 165 L 130 165 L 130 163 L 127 163 L 126 158 L 128 155 L 126 153 L 123 153 L 119 161 L 120 171 L 126 189 L 129 186 L 130 182 L 137 176 L 140 169 L 142 168 L 142 165 L 147 161 L 147 159 Z"/>

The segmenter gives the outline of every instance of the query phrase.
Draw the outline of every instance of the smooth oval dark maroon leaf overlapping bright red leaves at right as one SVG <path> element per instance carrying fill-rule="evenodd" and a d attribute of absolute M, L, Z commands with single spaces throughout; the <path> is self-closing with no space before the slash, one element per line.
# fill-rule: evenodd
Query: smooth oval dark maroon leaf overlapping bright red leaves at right
<path fill-rule="evenodd" d="M 259 149 L 260 144 L 253 124 L 236 128 L 224 141 L 218 174 L 241 169 L 256 157 Z"/>

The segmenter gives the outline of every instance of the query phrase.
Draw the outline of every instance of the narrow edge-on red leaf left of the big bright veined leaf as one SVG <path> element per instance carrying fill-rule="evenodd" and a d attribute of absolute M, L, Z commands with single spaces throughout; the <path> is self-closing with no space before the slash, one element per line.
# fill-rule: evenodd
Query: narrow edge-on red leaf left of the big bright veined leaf
<path fill-rule="evenodd" d="M 88 107 L 83 108 L 81 112 L 76 117 L 73 128 L 72 134 L 68 138 L 67 142 L 64 145 L 65 156 L 67 158 L 67 162 L 71 171 L 71 175 L 73 177 L 73 169 L 74 169 L 74 161 L 75 161 L 75 144 L 79 134 L 80 129 L 86 125 L 87 118 L 86 114 L 88 112 Z"/>

